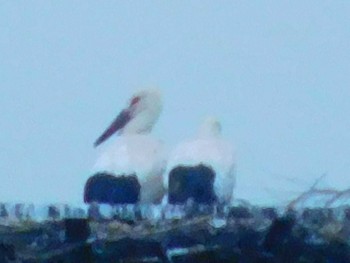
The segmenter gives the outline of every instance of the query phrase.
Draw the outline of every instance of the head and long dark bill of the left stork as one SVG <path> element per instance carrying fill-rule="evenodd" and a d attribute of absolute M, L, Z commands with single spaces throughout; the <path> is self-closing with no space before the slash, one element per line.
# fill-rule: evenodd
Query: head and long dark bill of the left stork
<path fill-rule="evenodd" d="M 135 93 L 128 105 L 112 124 L 96 140 L 98 146 L 114 133 L 142 134 L 152 130 L 162 110 L 161 94 L 158 89 L 145 89 Z"/>

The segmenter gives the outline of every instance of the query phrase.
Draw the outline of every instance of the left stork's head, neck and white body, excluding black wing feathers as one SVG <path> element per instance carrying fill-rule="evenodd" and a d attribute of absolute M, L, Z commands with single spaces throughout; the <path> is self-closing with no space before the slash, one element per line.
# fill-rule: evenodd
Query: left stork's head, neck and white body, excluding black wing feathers
<path fill-rule="evenodd" d="M 109 132 L 107 129 L 106 138 L 115 132 L 120 136 L 114 138 L 107 147 L 103 147 L 93 168 L 95 173 L 136 175 L 141 186 L 141 203 L 160 201 L 164 194 L 164 147 L 159 140 L 150 135 L 161 110 L 158 90 L 148 89 L 136 93 L 130 100 L 130 106 L 122 112 L 122 117 L 111 125 L 114 130 Z M 106 139 L 101 141 L 104 140 Z"/>

